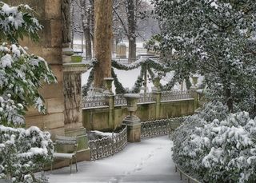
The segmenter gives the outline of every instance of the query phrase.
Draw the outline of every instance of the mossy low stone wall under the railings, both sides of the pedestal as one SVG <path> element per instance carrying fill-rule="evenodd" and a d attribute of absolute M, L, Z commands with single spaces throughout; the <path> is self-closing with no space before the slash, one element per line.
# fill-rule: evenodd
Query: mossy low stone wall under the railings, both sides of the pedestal
<path fill-rule="evenodd" d="M 134 113 L 141 121 L 152 121 L 169 117 L 181 117 L 194 113 L 194 99 L 179 101 L 162 101 L 160 103 L 159 115 L 157 113 L 157 102 L 138 104 Z M 122 120 L 128 115 L 126 105 L 115 106 L 113 118 L 110 120 L 110 109 L 91 108 L 82 110 L 82 122 L 86 129 L 108 131 L 122 125 Z M 158 117 L 157 117 L 158 116 Z"/>

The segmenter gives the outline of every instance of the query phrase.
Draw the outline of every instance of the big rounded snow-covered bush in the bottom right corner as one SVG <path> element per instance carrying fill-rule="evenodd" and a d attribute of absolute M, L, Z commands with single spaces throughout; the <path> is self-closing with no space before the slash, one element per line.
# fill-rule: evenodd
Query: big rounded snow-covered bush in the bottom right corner
<path fill-rule="evenodd" d="M 206 105 L 174 132 L 174 161 L 206 182 L 256 180 L 256 119 Z"/>

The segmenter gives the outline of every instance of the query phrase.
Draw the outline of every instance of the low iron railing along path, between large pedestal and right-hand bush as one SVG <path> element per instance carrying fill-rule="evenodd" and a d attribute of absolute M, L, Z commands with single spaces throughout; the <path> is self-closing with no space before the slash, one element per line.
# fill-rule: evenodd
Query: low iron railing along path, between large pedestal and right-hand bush
<path fill-rule="evenodd" d="M 155 121 L 142 122 L 141 137 L 156 137 L 168 135 L 171 131 L 182 124 L 185 117 L 175 117 L 170 119 L 160 119 Z"/>

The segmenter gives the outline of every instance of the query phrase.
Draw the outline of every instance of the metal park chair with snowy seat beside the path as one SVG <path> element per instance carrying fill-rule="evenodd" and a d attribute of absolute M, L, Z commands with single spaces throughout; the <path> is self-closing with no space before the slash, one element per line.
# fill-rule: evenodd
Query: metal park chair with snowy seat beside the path
<path fill-rule="evenodd" d="M 67 149 L 68 153 L 57 152 L 58 149 Z M 72 164 L 73 159 L 75 161 L 76 171 L 78 172 L 78 163 L 77 163 L 77 149 L 78 149 L 78 142 L 77 137 L 66 137 L 66 136 L 58 136 L 56 135 L 54 141 L 54 159 L 68 159 L 70 160 L 70 173 L 72 173 Z M 65 151 L 66 152 L 66 151 Z M 53 169 L 52 161 L 50 169 Z"/>

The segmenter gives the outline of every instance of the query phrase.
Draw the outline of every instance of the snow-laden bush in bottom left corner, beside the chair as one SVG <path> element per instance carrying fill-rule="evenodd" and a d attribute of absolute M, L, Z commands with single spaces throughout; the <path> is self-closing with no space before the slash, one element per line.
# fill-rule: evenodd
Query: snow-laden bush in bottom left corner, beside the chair
<path fill-rule="evenodd" d="M 51 161 L 50 133 L 38 127 L 14 129 L 0 125 L 0 179 L 12 182 L 39 182 L 34 172 Z"/>

